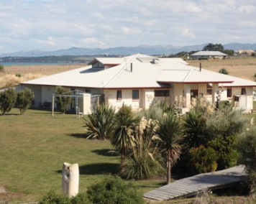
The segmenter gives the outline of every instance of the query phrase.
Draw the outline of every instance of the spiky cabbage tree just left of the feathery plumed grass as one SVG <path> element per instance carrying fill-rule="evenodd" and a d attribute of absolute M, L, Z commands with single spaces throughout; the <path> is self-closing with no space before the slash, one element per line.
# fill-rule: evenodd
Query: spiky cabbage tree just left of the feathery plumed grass
<path fill-rule="evenodd" d="M 111 136 L 111 144 L 117 149 L 121 155 L 120 173 L 124 173 L 124 160 L 127 157 L 128 150 L 134 144 L 134 131 L 140 119 L 134 117 L 131 106 L 123 106 L 116 113 L 114 125 L 114 134 Z"/>

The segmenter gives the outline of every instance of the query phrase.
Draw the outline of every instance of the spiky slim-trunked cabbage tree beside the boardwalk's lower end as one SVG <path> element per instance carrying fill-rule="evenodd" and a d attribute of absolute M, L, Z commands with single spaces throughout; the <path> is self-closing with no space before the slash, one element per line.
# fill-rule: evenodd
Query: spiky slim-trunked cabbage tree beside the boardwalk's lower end
<path fill-rule="evenodd" d="M 167 183 L 170 183 L 171 167 L 180 158 L 181 153 L 182 128 L 178 117 L 172 112 L 168 113 L 160 119 L 156 133 L 161 139 L 160 149 L 165 152 Z"/>

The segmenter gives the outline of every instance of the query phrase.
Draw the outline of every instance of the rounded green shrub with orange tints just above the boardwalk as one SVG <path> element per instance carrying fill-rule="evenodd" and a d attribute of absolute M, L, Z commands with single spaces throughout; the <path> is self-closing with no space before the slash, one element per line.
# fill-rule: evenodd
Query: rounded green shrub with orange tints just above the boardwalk
<path fill-rule="evenodd" d="M 215 150 L 204 146 L 193 147 L 190 150 L 191 164 L 198 173 L 214 172 L 217 168 L 218 158 Z"/>

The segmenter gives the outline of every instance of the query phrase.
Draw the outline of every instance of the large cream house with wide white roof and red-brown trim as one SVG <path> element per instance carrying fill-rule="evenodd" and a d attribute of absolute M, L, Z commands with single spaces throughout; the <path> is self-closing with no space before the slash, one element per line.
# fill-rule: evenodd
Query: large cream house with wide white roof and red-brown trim
<path fill-rule="evenodd" d="M 256 83 L 188 65 L 180 58 L 130 55 L 96 58 L 88 66 L 65 73 L 29 80 L 22 87 L 35 92 L 35 104 L 52 101 L 57 85 L 104 96 L 116 108 L 130 105 L 135 111 L 149 108 L 153 101 L 165 100 L 188 109 L 191 97 L 206 96 L 216 102 L 238 98 L 237 106 L 252 109 L 252 88 Z"/>

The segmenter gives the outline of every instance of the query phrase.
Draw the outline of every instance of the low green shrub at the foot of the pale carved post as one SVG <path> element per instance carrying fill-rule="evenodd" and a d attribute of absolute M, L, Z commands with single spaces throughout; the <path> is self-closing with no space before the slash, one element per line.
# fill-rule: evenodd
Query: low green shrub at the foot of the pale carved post
<path fill-rule="evenodd" d="M 63 194 L 56 194 L 54 191 L 47 193 L 39 204 L 92 204 L 85 193 L 78 193 L 75 197 L 68 198 Z"/>

